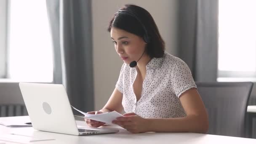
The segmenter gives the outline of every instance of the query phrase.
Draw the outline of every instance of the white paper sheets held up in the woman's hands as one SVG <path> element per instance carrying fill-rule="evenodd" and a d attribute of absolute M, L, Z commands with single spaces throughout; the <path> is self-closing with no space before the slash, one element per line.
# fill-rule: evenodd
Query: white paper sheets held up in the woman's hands
<path fill-rule="evenodd" d="M 120 113 L 116 111 L 112 112 L 105 112 L 102 114 L 94 115 L 94 114 L 87 114 L 86 112 L 82 112 L 75 107 L 71 106 L 73 109 L 77 110 L 81 114 L 85 115 L 85 118 L 88 118 L 90 120 L 97 120 L 104 123 L 112 123 L 113 120 L 115 120 L 117 117 L 123 117 Z"/>

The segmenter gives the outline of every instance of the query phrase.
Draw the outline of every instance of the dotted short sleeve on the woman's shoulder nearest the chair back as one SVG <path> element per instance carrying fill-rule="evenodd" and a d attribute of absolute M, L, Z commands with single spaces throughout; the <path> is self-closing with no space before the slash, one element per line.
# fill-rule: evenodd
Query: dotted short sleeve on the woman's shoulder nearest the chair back
<path fill-rule="evenodd" d="M 190 88 L 197 88 L 187 64 L 181 59 L 175 60 L 171 72 L 171 83 L 176 96 L 179 96 Z"/>

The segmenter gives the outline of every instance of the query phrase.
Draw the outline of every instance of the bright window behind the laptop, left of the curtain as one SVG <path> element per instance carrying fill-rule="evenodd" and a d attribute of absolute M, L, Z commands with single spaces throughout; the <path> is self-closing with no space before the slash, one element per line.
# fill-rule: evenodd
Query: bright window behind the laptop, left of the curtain
<path fill-rule="evenodd" d="M 8 81 L 52 82 L 53 48 L 45 0 L 8 0 L 7 24 Z"/>

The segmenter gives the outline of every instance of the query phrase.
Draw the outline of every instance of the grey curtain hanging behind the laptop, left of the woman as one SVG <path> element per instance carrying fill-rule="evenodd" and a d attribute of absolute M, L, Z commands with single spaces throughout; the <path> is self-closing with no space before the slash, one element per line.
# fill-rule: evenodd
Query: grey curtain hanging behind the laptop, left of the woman
<path fill-rule="evenodd" d="M 63 84 L 70 103 L 94 109 L 91 0 L 46 0 L 53 39 L 53 83 Z"/>

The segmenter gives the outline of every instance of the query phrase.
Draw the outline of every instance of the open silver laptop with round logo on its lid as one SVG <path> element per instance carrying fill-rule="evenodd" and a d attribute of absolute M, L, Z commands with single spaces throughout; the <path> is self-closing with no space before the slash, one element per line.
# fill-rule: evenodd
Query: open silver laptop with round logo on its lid
<path fill-rule="evenodd" d="M 77 136 L 118 132 L 111 128 L 77 128 L 63 85 L 19 83 L 19 88 L 36 130 Z"/>

